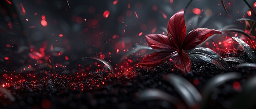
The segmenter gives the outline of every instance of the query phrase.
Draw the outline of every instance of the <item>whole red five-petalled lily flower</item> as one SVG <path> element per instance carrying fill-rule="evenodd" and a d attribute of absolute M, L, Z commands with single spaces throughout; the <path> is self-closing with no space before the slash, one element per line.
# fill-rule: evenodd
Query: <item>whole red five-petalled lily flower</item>
<path fill-rule="evenodd" d="M 171 58 L 176 69 L 183 73 L 190 72 L 191 60 L 184 50 L 193 49 L 213 34 L 221 34 L 218 30 L 197 28 L 186 35 L 183 10 L 170 18 L 167 30 L 167 36 L 160 34 L 146 35 L 150 47 L 164 51 L 150 54 L 138 64 L 153 67 Z"/>

